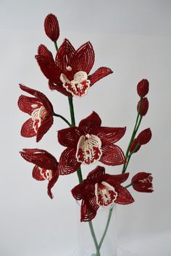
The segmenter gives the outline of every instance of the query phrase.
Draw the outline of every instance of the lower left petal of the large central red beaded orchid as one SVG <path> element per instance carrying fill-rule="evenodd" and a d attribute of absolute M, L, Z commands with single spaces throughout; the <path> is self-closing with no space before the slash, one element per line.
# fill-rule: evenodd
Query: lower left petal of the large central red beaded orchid
<path fill-rule="evenodd" d="M 65 149 L 62 152 L 60 160 L 59 160 L 59 174 L 66 175 L 70 173 L 74 173 L 75 170 L 78 170 L 80 167 L 80 162 L 77 161 L 76 157 L 76 149 Z"/>

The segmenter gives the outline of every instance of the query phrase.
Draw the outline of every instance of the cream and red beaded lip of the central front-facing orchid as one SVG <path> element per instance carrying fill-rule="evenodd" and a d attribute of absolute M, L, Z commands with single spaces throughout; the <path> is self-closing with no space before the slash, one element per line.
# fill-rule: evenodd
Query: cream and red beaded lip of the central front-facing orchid
<path fill-rule="evenodd" d="M 101 139 L 93 134 L 80 136 L 77 146 L 76 158 L 83 164 L 91 164 L 101 158 Z"/>

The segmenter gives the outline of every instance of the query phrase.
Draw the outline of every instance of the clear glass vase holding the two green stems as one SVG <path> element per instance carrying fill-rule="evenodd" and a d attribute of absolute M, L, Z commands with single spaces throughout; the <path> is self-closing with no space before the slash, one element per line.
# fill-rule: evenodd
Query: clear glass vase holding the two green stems
<path fill-rule="evenodd" d="M 80 205 L 77 207 L 80 220 Z M 91 222 L 78 222 L 77 256 L 117 256 L 116 205 L 99 209 Z"/>

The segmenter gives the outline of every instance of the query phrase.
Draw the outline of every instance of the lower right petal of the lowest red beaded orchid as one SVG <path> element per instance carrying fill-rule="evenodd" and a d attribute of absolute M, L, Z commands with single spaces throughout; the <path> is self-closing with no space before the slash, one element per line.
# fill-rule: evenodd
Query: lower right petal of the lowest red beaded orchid
<path fill-rule="evenodd" d="M 115 203 L 120 205 L 128 205 L 134 202 L 130 192 L 123 186 L 117 186 L 114 189 L 117 191 L 117 199 L 115 200 Z"/>

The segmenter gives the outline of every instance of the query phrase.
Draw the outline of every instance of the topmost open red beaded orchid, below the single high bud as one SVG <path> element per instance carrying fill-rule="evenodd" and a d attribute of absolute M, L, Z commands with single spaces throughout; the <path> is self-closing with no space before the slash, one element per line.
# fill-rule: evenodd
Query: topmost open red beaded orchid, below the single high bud
<path fill-rule="evenodd" d="M 55 61 L 51 51 L 41 45 L 38 47 L 36 59 L 41 71 L 49 79 L 49 88 L 70 97 L 86 95 L 88 88 L 112 73 L 111 69 L 100 67 L 95 73 L 89 75 L 95 59 L 90 42 L 83 44 L 75 51 L 70 41 L 64 39 L 57 51 Z"/>

